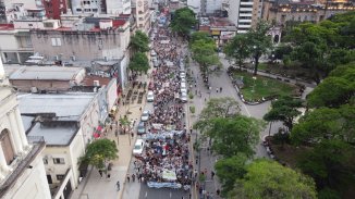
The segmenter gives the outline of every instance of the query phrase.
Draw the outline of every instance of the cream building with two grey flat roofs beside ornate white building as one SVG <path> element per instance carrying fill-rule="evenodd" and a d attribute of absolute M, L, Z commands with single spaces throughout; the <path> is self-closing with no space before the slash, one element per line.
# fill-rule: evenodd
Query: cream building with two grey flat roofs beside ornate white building
<path fill-rule="evenodd" d="M 42 162 L 52 198 L 68 198 L 85 177 L 79 158 L 102 130 L 96 92 L 25 94 L 19 108 L 27 136 L 46 141 Z"/>

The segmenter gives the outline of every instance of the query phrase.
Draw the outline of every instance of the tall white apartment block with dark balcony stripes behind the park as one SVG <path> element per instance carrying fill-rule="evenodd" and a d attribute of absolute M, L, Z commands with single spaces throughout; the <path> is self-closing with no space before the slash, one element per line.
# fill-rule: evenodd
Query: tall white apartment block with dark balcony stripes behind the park
<path fill-rule="evenodd" d="M 261 16 L 262 0 L 230 0 L 228 17 L 237 27 L 237 33 L 246 33 Z"/>

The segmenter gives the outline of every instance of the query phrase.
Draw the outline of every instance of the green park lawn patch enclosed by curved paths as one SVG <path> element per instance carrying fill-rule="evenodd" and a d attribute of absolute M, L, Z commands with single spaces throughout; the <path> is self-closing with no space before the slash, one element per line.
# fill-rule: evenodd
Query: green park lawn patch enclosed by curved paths
<path fill-rule="evenodd" d="M 257 101 L 261 98 L 270 98 L 273 96 L 293 96 L 296 91 L 296 86 L 272 79 L 264 76 L 256 76 L 253 79 L 253 74 L 247 72 L 235 72 L 234 78 L 243 76 L 244 87 L 242 94 L 247 101 Z M 255 85 L 255 86 L 254 86 Z"/>

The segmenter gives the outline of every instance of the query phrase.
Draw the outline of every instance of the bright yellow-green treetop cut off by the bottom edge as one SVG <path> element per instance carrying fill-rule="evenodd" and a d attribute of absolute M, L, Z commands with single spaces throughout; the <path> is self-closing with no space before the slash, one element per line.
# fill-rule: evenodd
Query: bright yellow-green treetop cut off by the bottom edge
<path fill-rule="evenodd" d="M 247 173 L 238 179 L 229 198 L 316 199 L 314 181 L 278 162 L 257 160 L 246 167 Z"/>

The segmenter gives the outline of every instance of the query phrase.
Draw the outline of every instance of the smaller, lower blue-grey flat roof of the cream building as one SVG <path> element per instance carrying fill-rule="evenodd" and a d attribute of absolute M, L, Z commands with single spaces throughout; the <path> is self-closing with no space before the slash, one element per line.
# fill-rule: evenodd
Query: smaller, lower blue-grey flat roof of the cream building
<path fill-rule="evenodd" d="M 46 146 L 68 146 L 77 132 L 73 124 L 68 125 L 42 125 L 37 122 L 27 136 L 44 136 Z"/>

